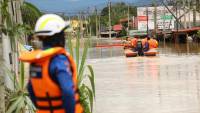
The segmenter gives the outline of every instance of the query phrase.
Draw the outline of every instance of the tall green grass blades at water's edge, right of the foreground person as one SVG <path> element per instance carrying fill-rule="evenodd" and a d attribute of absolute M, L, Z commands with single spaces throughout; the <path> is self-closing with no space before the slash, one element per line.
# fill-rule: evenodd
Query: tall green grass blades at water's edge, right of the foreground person
<path fill-rule="evenodd" d="M 85 39 L 86 41 L 84 42 L 83 53 L 81 55 L 80 34 L 78 33 L 78 36 L 76 37 L 75 48 L 72 44 L 72 37 L 69 35 L 67 38 L 69 52 L 74 58 L 76 58 L 80 102 L 84 107 L 84 113 L 93 113 L 95 99 L 95 74 L 92 66 L 86 64 L 90 39 Z M 90 85 L 85 82 L 86 79 L 89 80 Z"/>

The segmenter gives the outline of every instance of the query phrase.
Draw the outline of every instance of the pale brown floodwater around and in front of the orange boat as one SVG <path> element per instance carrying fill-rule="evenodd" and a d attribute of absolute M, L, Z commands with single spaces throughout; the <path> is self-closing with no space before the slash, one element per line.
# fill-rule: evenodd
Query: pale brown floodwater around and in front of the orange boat
<path fill-rule="evenodd" d="M 91 48 L 95 113 L 200 113 L 200 45 L 160 44 L 155 57 Z"/>

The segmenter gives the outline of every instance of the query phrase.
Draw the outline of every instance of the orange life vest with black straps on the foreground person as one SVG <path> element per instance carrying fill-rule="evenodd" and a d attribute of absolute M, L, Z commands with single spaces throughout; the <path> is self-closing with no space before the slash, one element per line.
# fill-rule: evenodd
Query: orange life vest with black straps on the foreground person
<path fill-rule="evenodd" d="M 30 77 L 30 82 L 36 97 L 36 113 L 66 113 L 63 108 L 61 90 L 59 86 L 50 78 L 48 70 L 50 60 L 58 54 L 63 54 L 69 59 L 74 83 L 74 98 L 76 101 L 75 113 L 83 113 L 83 108 L 79 102 L 79 94 L 77 90 L 75 62 L 65 49 L 61 47 L 24 52 L 19 58 L 21 61 L 29 62 L 31 65 L 38 66 L 41 69 L 41 78 Z"/>

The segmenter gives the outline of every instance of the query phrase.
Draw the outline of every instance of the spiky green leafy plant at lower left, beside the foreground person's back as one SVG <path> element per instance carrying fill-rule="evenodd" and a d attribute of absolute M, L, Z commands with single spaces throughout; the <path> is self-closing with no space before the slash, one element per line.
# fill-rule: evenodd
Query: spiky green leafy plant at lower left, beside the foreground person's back
<path fill-rule="evenodd" d="M 35 113 L 35 107 L 29 98 L 26 90 L 25 67 L 20 63 L 20 74 L 16 76 L 5 66 L 2 66 L 4 72 L 10 77 L 14 84 L 14 90 L 6 89 L 6 113 Z"/>

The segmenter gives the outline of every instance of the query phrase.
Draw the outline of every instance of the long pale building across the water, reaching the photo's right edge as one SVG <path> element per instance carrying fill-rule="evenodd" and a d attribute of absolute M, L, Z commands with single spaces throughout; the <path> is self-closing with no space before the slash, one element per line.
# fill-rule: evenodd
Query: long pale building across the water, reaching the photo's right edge
<path fill-rule="evenodd" d="M 137 19 L 138 19 L 138 30 L 147 30 L 147 15 L 148 15 L 148 28 L 149 30 L 154 29 L 154 17 L 155 17 L 155 9 L 157 10 L 157 29 L 163 30 L 173 30 L 176 28 L 176 20 L 174 16 L 180 17 L 180 22 L 182 25 L 179 25 L 179 28 L 191 28 L 194 23 L 194 16 L 196 15 L 196 25 L 200 23 L 200 14 L 198 12 L 194 12 L 193 10 L 183 10 L 178 9 L 176 12 L 176 8 L 172 6 L 168 6 L 169 10 L 164 6 L 155 7 L 138 7 L 137 8 Z M 148 11 L 148 13 L 147 13 Z M 172 14 L 173 13 L 173 14 Z M 174 16 L 173 16 L 174 15 Z"/>

